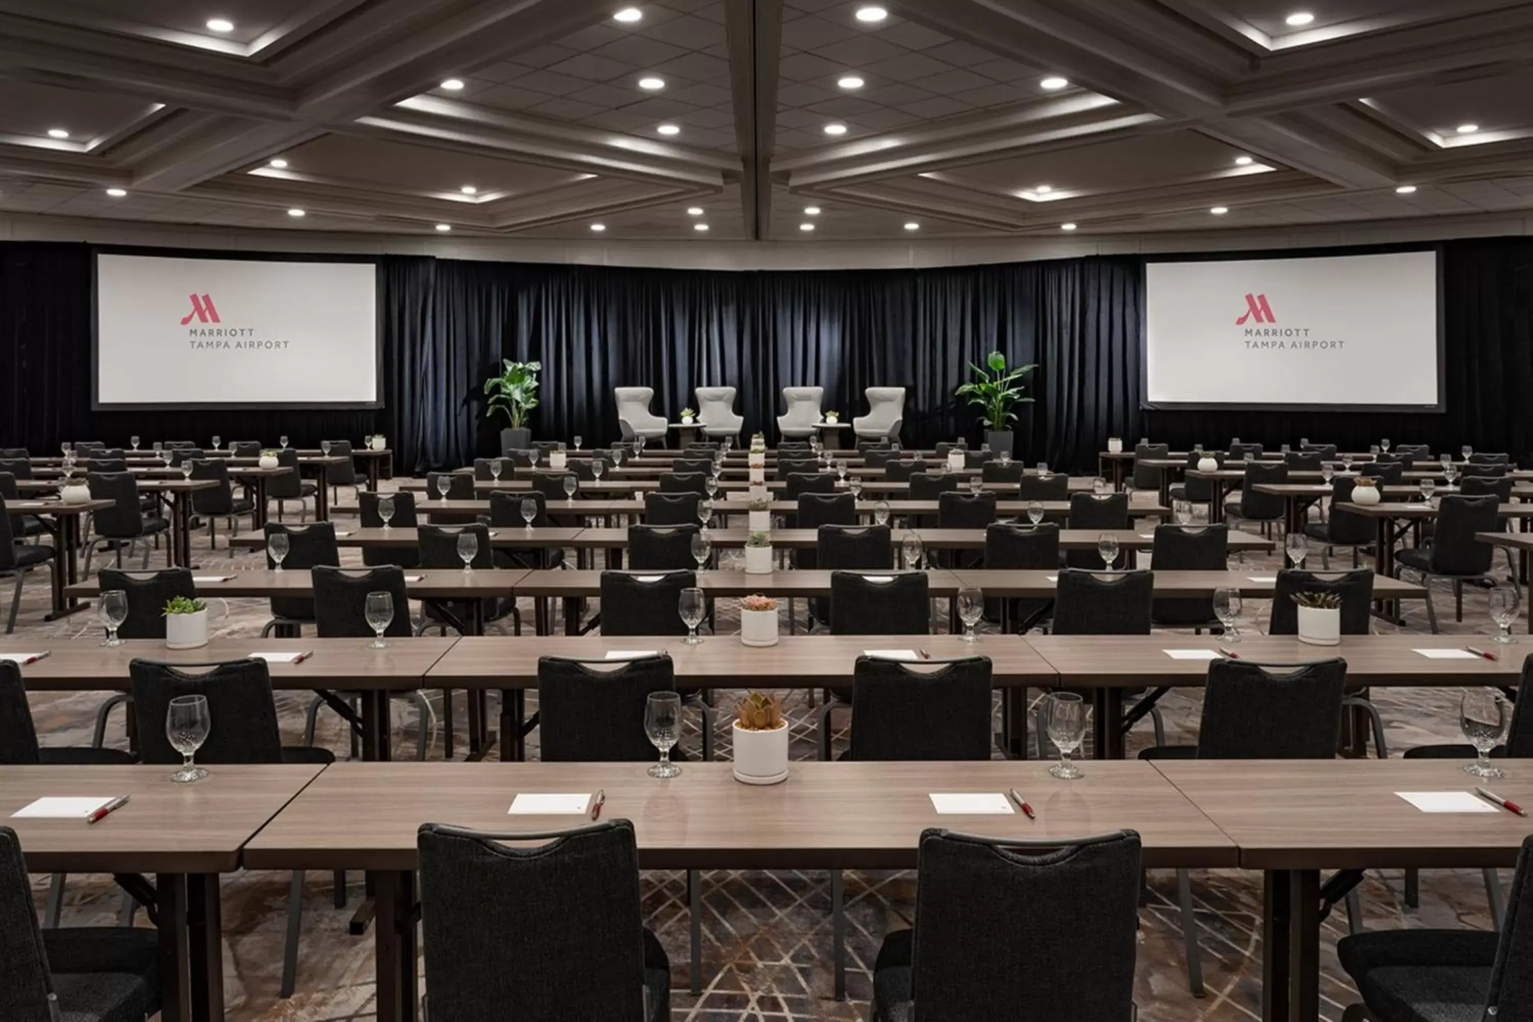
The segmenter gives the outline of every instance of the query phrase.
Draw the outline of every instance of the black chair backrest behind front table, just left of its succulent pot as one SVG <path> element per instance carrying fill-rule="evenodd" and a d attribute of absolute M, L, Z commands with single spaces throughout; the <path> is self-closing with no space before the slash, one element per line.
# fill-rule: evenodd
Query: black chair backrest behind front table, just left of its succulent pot
<path fill-rule="evenodd" d="M 655 758 L 644 732 L 650 693 L 676 688 L 670 656 L 633 660 L 538 657 L 538 757 L 546 763 Z"/>

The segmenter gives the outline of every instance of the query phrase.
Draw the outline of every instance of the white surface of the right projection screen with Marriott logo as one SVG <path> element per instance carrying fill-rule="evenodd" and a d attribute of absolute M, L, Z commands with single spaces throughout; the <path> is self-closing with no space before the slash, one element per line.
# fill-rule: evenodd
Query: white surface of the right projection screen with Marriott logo
<path fill-rule="evenodd" d="M 1150 262 L 1151 409 L 1439 411 L 1438 253 Z"/>

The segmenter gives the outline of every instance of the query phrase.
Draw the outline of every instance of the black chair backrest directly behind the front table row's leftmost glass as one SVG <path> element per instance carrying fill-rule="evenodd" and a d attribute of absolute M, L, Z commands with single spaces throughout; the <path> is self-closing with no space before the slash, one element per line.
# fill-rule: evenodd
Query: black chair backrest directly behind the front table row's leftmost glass
<path fill-rule="evenodd" d="M 181 754 L 166 737 L 166 711 L 178 696 L 207 697 L 212 726 L 196 752 L 199 763 L 282 762 L 282 732 L 265 660 L 178 665 L 135 657 L 127 673 L 138 720 L 138 758 L 144 763 L 181 763 Z"/>

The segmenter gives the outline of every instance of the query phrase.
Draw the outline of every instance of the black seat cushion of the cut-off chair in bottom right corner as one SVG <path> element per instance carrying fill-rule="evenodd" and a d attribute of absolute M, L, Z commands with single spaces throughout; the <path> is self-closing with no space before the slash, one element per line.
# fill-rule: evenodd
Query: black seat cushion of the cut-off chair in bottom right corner
<path fill-rule="evenodd" d="M 1341 968 L 1378 1022 L 1479 1022 L 1501 935 L 1378 930 L 1337 942 Z"/>

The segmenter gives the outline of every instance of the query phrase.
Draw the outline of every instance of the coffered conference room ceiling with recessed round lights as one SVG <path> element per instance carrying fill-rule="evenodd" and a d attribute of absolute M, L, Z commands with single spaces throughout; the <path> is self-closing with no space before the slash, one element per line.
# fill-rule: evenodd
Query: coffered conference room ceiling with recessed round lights
<path fill-rule="evenodd" d="M 1533 208 L 1530 95 L 1533 2 L 0 0 L 0 213 L 639 242 L 1409 222 Z"/>

